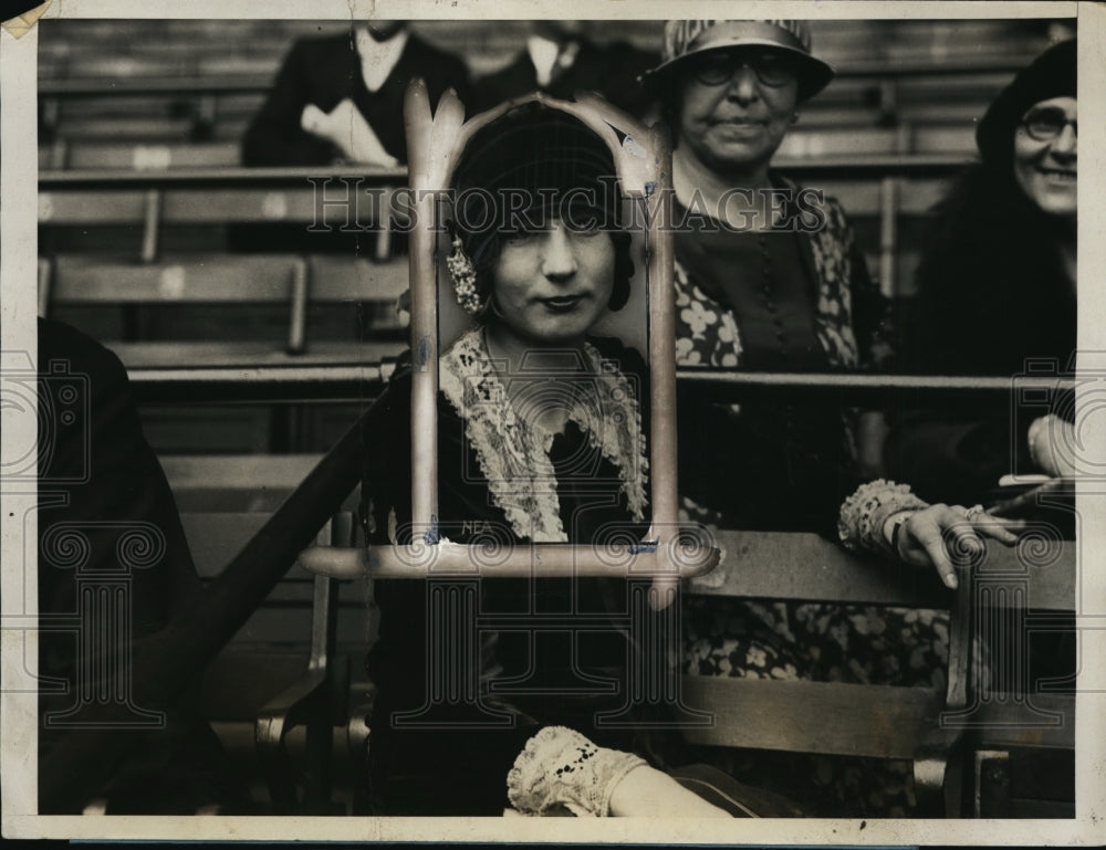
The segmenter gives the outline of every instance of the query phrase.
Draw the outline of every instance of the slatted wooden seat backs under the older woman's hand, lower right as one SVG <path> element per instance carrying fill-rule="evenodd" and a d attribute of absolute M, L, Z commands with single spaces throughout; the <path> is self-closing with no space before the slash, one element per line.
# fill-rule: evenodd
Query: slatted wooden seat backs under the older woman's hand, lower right
<path fill-rule="evenodd" d="M 729 553 L 719 568 L 722 575 L 692 580 L 689 592 L 911 608 L 952 609 L 957 605 L 956 595 L 928 571 L 856 557 L 815 535 L 723 532 L 719 544 Z M 987 559 L 977 566 L 974 581 L 966 583 L 959 592 L 968 595 L 968 610 L 978 606 L 981 594 L 1008 610 L 1073 610 L 1074 549 L 1073 543 L 1058 541 L 1044 542 L 1032 550 L 992 545 Z M 991 591 L 984 592 L 989 586 Z M 992 592 L 1010 587 L 1024 595 Z M 962 619 L 962 610 L 952 616 Z M 967 659 L 970 647 L 956 646 L 957 626 L 954 622 L 950 655 Z M 959 639 L 971 640 L 971 629 L 959 626 Z M 963 672 L 950 672 L 950 688 L 957 675 Z M 948 707 L 949 697 L 926 688 L 697 675 L 684 678 L 684 693 L 689 706 L 711 711 L 717 718 L 713 726 L 687 732 L 695 743 L 883 758 L 915 758 L 939 713 Z M 984 727 L 985 739 L 1001 739 L 1006 745 L 1074 746 L 1071 697 L 1034 695 L 1030 703 L 1060 712 L 1067 721 L 1042 726 L 1025 722 L 1032 707 L 1024 694 L 991 696 L 973 706 L 960 706 L 974 712 L 973 723 Z M 1021 725 L 1012 725 L 1019 714 Z"/>

